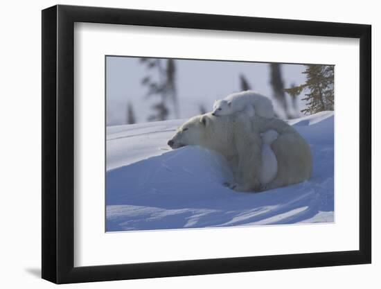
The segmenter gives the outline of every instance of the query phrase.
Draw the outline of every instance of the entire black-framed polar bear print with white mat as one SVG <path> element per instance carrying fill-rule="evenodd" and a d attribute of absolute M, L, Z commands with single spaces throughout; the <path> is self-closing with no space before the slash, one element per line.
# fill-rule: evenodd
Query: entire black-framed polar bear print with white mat
<path fill-rule="evenodd" d="M 371 26 L 42 11 L 42 278 L 371 263 Z"/>

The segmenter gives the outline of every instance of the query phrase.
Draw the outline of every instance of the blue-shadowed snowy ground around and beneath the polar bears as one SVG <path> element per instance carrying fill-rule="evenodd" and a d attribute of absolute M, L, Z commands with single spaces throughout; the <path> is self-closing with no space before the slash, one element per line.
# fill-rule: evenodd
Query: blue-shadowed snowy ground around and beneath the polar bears
<path fill-rule="evenodd" d="M 222 186 L 216 152 L 166 145 L 184 120 L 107 128 L 107 231 L 333 222 L 333 112 L 289 121 L 312 148 L 307 182 L 263 193 Z"/>

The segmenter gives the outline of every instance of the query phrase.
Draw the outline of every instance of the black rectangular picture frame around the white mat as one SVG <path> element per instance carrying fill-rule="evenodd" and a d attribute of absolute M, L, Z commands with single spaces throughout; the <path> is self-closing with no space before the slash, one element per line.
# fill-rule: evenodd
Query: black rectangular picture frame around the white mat
<path fill-rule="evenodd" d="M 355 251 L 74 267 L 75 22 L 360 39 L 360 248 Z M 371 26 L 83 6 L 42 10 L 42 278 L 77 283 L 371 263 Z"/>

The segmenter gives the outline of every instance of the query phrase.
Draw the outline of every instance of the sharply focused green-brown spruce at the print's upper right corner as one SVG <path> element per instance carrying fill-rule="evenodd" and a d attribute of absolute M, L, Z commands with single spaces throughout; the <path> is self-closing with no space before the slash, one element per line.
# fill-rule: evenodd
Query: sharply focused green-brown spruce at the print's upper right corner
<path fill-rule="evenodd" d="M 303 91 L 307 100 L 307 107 L 301 110 L 303 114 L 315 114 L 334 109 L 334 66 L 321 64 L 306 64 L 306 80 L 303 85 L 284 89 L 291 96 L 299 96 Z"/>

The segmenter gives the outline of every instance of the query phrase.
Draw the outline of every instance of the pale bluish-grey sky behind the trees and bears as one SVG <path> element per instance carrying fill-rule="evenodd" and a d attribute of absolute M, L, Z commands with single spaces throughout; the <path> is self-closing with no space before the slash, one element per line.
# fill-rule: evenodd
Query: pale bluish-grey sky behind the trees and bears
<path fill-rule="evenodd" d="M 175 65 L 181 119 L 200 114 L 200 105 L 211 110 L 215 99 L 240 91 L 240 74 L 247 78 L 251 89 L 272 98 L 267 63 L 175 60 Z M 281 69 L 286 88 L 292 83 L 300 85 L 305 81 L 302 64 L 282 64 Z M 107 125 L 126 123 L 129 101 L 134 107 L 136 122 L 147 122 L 152 113 L 151 105 L 159 101 L 158 96 L 145 98 L 147 87 L 141 85 L 141 79 L 151 72 L 139 62 L 139 58 L 107 56 L 106 73 Z M 152 76 L 157 77 L 157 73 L 152 73 Z M 170 103 L 168 107 L 172 109 Z M 278 105 L 274 103 L 274 107 Z M 302 109 L 304 103 L 300 102 L 299 107 Z M 170 114 L 169 119 L 174 118 Z"/>

